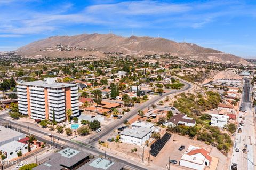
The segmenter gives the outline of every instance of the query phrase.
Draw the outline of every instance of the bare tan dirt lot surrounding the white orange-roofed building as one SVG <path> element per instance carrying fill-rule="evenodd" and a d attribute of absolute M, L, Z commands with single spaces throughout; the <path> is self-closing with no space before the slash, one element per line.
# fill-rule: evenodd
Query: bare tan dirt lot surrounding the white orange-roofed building
<path fill-rule="evenodd" d="M 185 145 L 186 148 L 183 149 L 182 151 L 179 151 L 178 149 L 181 145 Z M 211 147 L 210 145 L 206 145 L 201 141 L 191 140 L 191 139 L 188 139 L 188 137 L 179 136 L 177 134 L 173 134 L 171 139 L 165 144 L 164 148 L 158 153 L 157 157 L 152 157 L 151 160 L 155 165 L 161 166 L 163 168 L 166 167 L 166 164 L 169 161 L 169 157 L 170 157 L 170 160 L 174 159 L 174 160 L 177 160 L 179 163 L 183 152 L 187 150 L 189 145 L 202 147 L 210 152 L 210 156 L 219 158 L 217 170 L 223 169 L 223 165 L 226 162 L 226 157 L 221 152 L 219 152 L 216 148 Z M 189 168 L 179 166 L 178 164 L 171 165 L 171 166 L 175 169 L 178 167 L 182 169 L 189 169 Z"/>

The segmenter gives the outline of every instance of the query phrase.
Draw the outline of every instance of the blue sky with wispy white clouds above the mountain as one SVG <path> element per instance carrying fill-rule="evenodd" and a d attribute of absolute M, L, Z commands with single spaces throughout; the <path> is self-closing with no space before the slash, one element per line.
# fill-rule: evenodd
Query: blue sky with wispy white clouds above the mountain
<path fill-rule="evenodd" d="M 55 35 L 163 37 L 256 57 L 255 1 L 0 1 L 0 51 Z"/>

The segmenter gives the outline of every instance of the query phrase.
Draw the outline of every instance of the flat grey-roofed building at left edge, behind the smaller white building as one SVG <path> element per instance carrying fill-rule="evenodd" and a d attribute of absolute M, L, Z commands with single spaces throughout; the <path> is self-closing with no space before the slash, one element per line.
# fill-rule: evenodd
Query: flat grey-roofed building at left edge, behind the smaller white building
<path fill-rule="evenodd" d="M 0 136 L 0 146 L 12 141 L 18 141 L 26 137 L 25 134 L 13 131 L 12 129 L 6 128 L 4 126 L 0 126 Z"/>

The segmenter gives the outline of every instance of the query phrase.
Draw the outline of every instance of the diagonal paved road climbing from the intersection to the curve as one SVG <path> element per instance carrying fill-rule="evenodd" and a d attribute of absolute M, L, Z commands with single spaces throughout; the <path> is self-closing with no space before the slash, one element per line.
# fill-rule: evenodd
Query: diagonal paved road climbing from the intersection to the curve
<path fill-rule="evenodd" d="M 105 129 L 102 129 L 101 132 L 91 136 L 91 139 L 92 139 L 91 142 L 98 141 L 99 138 L 102 138 L 103 136 L 109 134 L 110 132 L 113 132 L 117 127 L 122 126 L 122 124 L 124 123 L 124 120 L 129 120 L 133 116 L 137 115 L 139 110 L 143 110 L 145 108 L 150 107 L 153 103 L 156 103 L 157 101 L 165 98 L 167 95 L 174 94 L 174 93 L 179 93 L 179 92 L 182 92 L 182 91 L 187 91 L 192 87 L 192 85 L 190 83 L 184 82 L 183 80 L 180 80 L 180 82 L 185 84 L 185 86 L 183 88 L 181 88 L 180 90 L 173 90 L 173 91 L 168 92 L 168 93 L 163 93 L 162 96 L 160 96 L 160 95 L 155 96 L 154 98 L 148 100 L 147 102 L 140 104 L 138 107 L 135 107 L 131 111 L 127 112 L 127 114 L 125 114 L 121 119 L 116 120 L 114 123 L 112 123 L 111 125 L 109 125 Z"/>

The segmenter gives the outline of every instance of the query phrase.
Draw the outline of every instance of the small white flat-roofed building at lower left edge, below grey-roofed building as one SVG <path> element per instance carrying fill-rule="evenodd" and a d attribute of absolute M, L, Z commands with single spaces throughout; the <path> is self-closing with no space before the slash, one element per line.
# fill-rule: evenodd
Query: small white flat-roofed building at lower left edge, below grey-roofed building
<path fill-rule="evenodd" d="M 24 144 L 18 141 L 12 141 L 6 143 L 0 147 L 0 155 L 5 155 L 5 160 L 11 160 L 13 158 L 18 157 L 17 153 L 21 151 L 22 154 L 28 152 L 28 144 Z"/>

